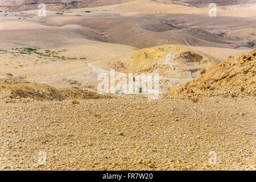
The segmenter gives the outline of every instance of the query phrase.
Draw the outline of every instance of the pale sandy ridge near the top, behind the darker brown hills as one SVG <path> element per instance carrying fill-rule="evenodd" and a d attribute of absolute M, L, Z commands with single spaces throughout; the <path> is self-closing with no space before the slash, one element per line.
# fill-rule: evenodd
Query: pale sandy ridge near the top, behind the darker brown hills
<path fill-rule="evenodd" d="M 171 13 L 171 14 L 197 14 L 207 15 L 210 8 L 208 7 L 192 7 L 180 4 L 170 3 L 171 1 L 151 1 L 137 0 L 118 5 L 109 5 L 102 7 L 92 7 L 78 9 L 77 11 L 90 10 L 98 13 L 115 13 L 121 15 L 132 15 L 135 13 Z M 217 7 L 217 16 L 240 16 L 255 17 L 256 3 L 250 5 L 233 5 Z M 74 10 L 75 11 L 75 10 Z"/>

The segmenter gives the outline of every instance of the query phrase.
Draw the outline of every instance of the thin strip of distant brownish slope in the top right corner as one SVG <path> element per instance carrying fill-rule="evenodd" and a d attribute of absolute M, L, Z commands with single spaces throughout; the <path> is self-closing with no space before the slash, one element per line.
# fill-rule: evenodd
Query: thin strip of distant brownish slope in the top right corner
<path fill-rule="evenodd" d="M 256 0 L 171 0 L 174 3 L 186 3 L 191 6 L 208 7 L 210 3 L 217 6 L 255 4 Z"/>

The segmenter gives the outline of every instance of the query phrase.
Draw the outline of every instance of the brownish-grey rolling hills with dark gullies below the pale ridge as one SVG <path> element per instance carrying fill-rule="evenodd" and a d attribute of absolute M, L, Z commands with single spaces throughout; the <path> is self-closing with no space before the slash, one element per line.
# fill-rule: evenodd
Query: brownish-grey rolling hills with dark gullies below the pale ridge
<path fill-rule="evenodd" d="M 82 14 L 73 16 L 52 16 L 46 19 L 44 26 L 63 27 L 70 24 L 90 28 L 100 33 L 97 40 L 110 43 L 126 44 L 137 48 L 154 47 L 163 44 L 183 44 L 186 46 L 240 48 L 253 47 L 254 40 L 226 36 L 229 31 L 242 27 L 253 28 L 254 18 L 217 17 L 213 21 L 209 16 L 178 14 L 139 14 L 119 16 L 106 13 Z M 201 19 L 199 23 L 197 19 Z M 216 27 L 216 24 L 220 26 Z M 202 24 L 199 26 L 199 24 Z M 234 28 L 237 27 L 237 28 Z M 251 30 L 251 31 L 253 31 Z M 79 35 L 82 36 L 82 35 Z M 95 39 L 94 39 L 95 40 Z"/>

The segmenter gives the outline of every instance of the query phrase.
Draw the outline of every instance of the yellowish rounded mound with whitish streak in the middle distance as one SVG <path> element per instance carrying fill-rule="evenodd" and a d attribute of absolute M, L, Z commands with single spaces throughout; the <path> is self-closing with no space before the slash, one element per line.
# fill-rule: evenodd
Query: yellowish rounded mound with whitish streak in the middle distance
<path fill-rule="evenodd" d="M 217 64 L 213 56 L 197 51 L 192 47 L 162 45 L 139 49 L 107 61 L 105 68 L 115 68 L 124 73 L 152 73 L 163 67 L 171 70 L 191 67 L 205 67 Z M 103 63 L 100 63 L 103 64 Z M 100 66 L 100 65 L 99 65 Z M 200 70 L 197 69 L 197 71 Z"/>

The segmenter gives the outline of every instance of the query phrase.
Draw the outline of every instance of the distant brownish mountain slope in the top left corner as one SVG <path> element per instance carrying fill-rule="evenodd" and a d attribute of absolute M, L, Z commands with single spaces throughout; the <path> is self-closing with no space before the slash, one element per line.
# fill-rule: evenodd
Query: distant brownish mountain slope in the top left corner
<path fill-rule="evenodd" d="M 82 7 L 115 5 L 134 0 L 0 0 L 0 9 L 24 11 L 38 9 L 39 3 L 46 3 L 47 10 L 67 10 Z"/>

